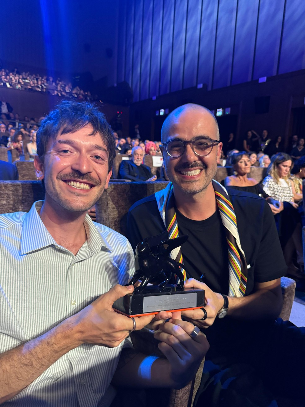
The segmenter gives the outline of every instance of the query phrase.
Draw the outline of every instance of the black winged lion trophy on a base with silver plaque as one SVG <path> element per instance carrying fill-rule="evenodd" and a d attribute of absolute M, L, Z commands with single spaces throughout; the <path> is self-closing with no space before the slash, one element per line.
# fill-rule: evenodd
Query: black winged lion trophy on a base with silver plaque
<path fill-rule="evenodd" d="M 181 246 L 187 238 L 188 235 L 183 235 L 168 239 L 168 232 L 165 231 L 138 243 L 135 250 L 135 273 L 128 283 L 137 286 L 132 294 L 116 300 L 113 308 L 129 317 L 202 308 L 205 302 L 204 290 L 185 288 L 180 270 L 184 266 L 170 258 L 170 252 Z M 174 284 L 170 284 L 172 281 Z"/>

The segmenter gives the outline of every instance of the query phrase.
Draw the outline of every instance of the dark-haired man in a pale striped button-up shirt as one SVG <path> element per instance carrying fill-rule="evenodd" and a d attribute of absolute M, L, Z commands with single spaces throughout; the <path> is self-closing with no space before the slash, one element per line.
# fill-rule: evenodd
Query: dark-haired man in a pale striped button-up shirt
<path fill-rule="evenodd" d="M 193 324 L 165 311 L 159 319 L 171 319 L 155 337 L 166 358 L 131 349 L 130 332 L 153 319 L 112 308 L 133 292 L 123 285 L 133 251 L 87 214 L 114 156 L 111 128 L 89 103 L 62 101 L 41 122 L 34 163 L 45 199 L 0 215 L 0 404 L 109 406 L 113 376 L 116 385 L 183 387 L 208 349 L 204 335 L 190 336 Z"/>

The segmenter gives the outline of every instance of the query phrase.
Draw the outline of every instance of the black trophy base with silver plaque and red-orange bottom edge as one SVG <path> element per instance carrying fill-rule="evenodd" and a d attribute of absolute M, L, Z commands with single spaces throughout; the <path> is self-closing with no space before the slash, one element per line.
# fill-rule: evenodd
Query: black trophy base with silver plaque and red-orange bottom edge
<path fill-rule="evenodd" d="M 196 288 L 176 290 L 176 284 L 160 288 L 146 286 L 140 293 L 127 294 L 113 304 L 115 311 L 128 317 L 157 314 L 160 311 L 185 311 L 202 308 L 205 291 Z"/>

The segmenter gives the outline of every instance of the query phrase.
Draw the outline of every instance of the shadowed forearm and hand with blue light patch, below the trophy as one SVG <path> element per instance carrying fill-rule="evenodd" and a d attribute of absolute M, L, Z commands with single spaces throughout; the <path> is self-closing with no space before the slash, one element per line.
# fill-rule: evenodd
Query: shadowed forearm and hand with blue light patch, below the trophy
<path fill-rule="evenodd" d="M 181 319 L 170 319 L 155 333 L 164 358 L 152 358 L 135 350 L 122 352 L 113 383 L 131 387 L 181 388 L 195 376 L 209 349 L 205 335 L 192 339 L 194 325 Z"/>

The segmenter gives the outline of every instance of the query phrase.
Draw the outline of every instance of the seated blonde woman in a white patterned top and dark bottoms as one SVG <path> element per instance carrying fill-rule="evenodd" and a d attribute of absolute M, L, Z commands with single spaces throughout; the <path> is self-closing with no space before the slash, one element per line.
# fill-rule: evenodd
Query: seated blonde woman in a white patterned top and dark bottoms
<path fill-rule="evenodd" d="M 288 265 L 288 273 L 303 278 L 304 273 L 298 273 L 292 263 L 292 257 L 294 251 L 296 251 L 296 261 L 301 267 L 304 267 L 301 215 L 298 212 L 298 204 L 294 199 L 296 190 L 290 179 L 291 168 L 292 159 L 290 155 L 286 153 L 276 154 L 272 157 L 268 167 L 269 175 L 263 181 L 263 189 L 271 197 L 283 202 L 283 213 L 281 216 L 275 216 L 279 239 Z M 296 195 L 296 197 L 298 196 Z"/>

